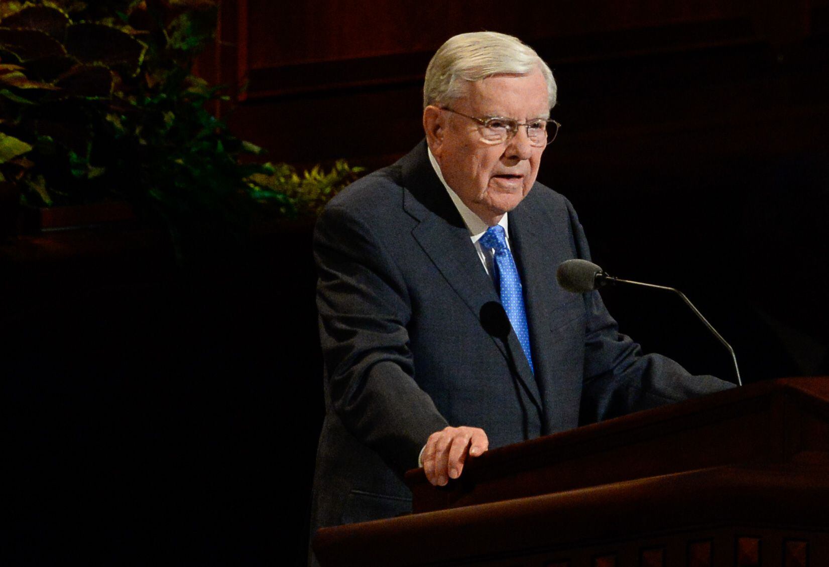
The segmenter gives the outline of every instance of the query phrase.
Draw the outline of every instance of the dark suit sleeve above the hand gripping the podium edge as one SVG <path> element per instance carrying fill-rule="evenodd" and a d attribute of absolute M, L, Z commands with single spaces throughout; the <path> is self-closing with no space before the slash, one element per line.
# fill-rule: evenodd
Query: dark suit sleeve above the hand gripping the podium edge
<path fill-rule="evenodd" d="M 371 226 L 328 206 L 314 234 L 326 403 L 397 472 L 447 421 L 414 381 L 405 281 Z"/>

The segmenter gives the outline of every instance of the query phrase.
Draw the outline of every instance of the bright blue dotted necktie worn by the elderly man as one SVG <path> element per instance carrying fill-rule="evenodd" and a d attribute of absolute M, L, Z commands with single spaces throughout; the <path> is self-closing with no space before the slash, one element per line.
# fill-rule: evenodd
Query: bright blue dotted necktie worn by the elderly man
<path fill-rule="evenodd" d="M 532 356 L 530 354 L 530 331 L 526 324 L 526 311 L 524 310 L 524 293 L 521 289 L 521 278 L 518 275 L 515 260 L 512 259 L 510 249 L 507 247 L 507 237 L 504 235 L 502 225 L 490 226 L 481 240 L 482 246 L 495 250 L 495 261 L 492 262 L 493 279 L 495 288 L 500 289 L 501 303 L 507 317 L 510 318 L 512 330 L 521 342 L 521 348 L 526 355 L 526 361 L 530 363 L 530 370 L 535 373 L 532 367 Z"/>

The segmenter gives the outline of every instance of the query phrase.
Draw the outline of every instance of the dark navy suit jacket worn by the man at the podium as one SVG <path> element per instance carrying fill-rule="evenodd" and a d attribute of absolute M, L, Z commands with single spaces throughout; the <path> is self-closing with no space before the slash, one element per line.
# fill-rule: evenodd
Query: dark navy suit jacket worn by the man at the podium
<path fill-rule="evenodd" d="M 730 386 L 642 356 L 599 293 L 559 287 L 560 262 L 589 259 L 564 196 L 536 183 L 509 218 L 535 376 L 515 332 L 481 320 L 499 298 L 425 143 L 327 206 L 314 237 L 327 415 L 312 533 L 409 511 L 400 477 L 447 424 L 482 428 L 496 448 Z"/>

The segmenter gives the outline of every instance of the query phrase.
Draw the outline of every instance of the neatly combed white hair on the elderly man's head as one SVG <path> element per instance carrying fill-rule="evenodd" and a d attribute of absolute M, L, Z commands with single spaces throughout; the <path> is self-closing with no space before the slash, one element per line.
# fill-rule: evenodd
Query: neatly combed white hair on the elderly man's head
<path fill-rule="evenodd" d="M 547 82 L 547 99 L 553 108 L 557 92 L 553 72 L 530 46 L 497 31 L 458 34 L 440 46 L 429 61 L 423 106 L 448 104 L 463 97 L 469 82 L 492 75 L 527 75 L 535 69 L 541 70 Z"/>

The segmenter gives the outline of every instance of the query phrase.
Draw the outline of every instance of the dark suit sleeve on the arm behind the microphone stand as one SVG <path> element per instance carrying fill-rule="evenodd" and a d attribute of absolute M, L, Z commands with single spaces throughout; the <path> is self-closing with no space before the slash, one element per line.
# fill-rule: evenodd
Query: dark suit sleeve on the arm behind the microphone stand
<path fill-rule="evenodd" d="M 590 259 L 584 230 L 572 206 L 576 257 Z M 642 354 L 637 342 L 618 332 L 598 291 L 584 293 L 584 383 L 579 424 L 594 423 L 676 401 L 733 388 L 715 376 L 692 376 L 676 361 Z"/>

